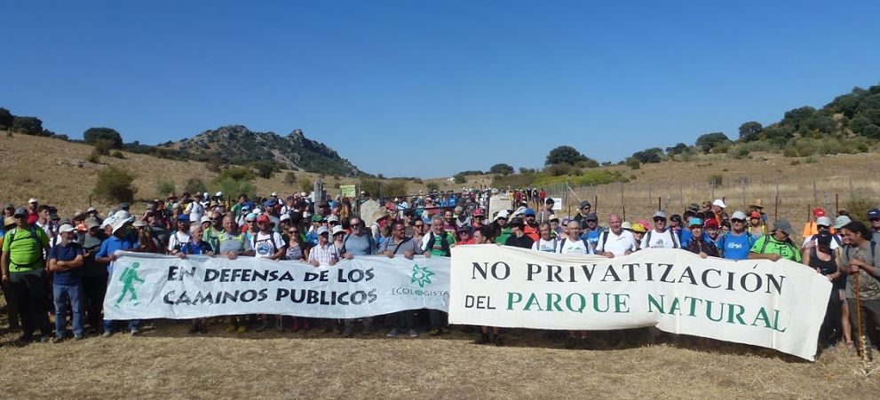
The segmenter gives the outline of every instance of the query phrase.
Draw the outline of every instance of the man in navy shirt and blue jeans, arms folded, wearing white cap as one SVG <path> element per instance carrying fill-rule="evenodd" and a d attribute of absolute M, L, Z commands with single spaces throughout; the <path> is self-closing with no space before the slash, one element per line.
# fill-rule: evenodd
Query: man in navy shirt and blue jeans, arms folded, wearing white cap
<path fill-rule="evenodd" d="M 67 325 L 67 302 L 70 302 L 74 339 L 83 339 L 83 247 L 74 238 L 74 227 L 62 224 L 58 231 L 61 242 L 49 250 L 49 271 L 52 271 L 52 296 L 55 300 L 55 341 L 64 340 Z"/>

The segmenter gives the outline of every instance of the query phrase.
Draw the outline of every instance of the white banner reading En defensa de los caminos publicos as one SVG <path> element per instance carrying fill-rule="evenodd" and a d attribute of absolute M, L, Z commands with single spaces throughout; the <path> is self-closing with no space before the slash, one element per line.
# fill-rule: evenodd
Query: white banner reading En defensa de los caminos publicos
<path fill-rule="evenodd" d="M 448 310 L 449 258 L 363 256 L 316 268 L 263 258 L 122 253 L 107 286 L 107 319 L 283 314 L 362 318 Z"/>

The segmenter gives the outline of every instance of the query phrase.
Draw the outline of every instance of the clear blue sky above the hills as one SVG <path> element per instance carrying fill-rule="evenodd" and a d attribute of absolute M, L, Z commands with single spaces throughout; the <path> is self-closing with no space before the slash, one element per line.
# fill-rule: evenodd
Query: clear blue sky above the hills
<path fill-rule="evenodd" d="M 253 5 L 258 4 L 258 5 Z M 12 2 L 0 106 L 157 144 L 303 129 L 359 168 L 599 161 L 880 83 L 878 2 Z"/>

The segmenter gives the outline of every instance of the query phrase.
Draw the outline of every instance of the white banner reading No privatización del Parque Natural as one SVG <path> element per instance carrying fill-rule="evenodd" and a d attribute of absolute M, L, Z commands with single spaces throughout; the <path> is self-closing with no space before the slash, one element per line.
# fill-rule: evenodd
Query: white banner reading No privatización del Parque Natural
<path fill-rule="evenodd" d="M 646 249 L 608 259 L 495 245 L 452 249 L 449 322 L 538 329 L 656 326 L 813 360 L 831 283 L 789 261 Z"/>

